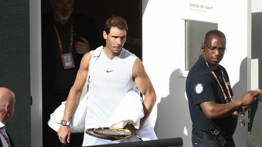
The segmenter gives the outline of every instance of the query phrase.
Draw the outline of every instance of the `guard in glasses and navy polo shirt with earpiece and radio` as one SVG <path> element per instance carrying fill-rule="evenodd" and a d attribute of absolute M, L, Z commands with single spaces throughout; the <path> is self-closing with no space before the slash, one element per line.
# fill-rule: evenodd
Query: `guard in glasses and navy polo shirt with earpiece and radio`
<path fill-rule="evenodd" d="M 247 91 L 239 100 L 233 101 L 227 71 L 219 65 L 226 50 L 226 37 L 221 31 L 209 31 L 201 49 L 203 54 L 186 79 L 186 94 L 193 123 L 192 144 L 233 147 L 235 143 L 232 136 L 238 113 L 248 109 L 262 92 L 260 89 Z M 214 140 L 212 136 L 218 139 Z"/>

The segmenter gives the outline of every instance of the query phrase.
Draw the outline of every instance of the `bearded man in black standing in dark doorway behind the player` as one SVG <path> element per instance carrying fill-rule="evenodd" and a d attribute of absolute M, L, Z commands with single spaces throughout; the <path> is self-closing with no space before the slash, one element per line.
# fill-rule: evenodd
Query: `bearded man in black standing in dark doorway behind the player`
<path fill-rule="evenodd" d="M 72 13 L 74 0 L 50 0 L 52 12 L 42 15 L 43 146 L 61 146 L 47 121 L 66 101 L 85 53 L 102 44 L 92 18 Z M 71 135 L 68 146 L 82 146 L 83 134 Z"/>

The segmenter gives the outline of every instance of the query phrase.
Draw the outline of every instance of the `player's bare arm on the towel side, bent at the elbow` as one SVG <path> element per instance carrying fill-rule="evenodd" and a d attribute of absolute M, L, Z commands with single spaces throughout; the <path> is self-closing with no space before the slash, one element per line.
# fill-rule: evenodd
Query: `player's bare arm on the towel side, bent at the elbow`
<path fill-rule="evenodd" d="M 140 128 L 141 128 L 143 127 L 144 122 L 150 115 L 155 105 L 156 94 L 140 59 L 135 60 L 135 63 L 133 65 L 132 75 L 133 75 L 133 80 L 135 80 L 135 84 L 138 87 L 139 91 L 145 96 L 143 101 L 143 109 L 144 109 L 145 116 L 140 121 L 141 122 Z"/>

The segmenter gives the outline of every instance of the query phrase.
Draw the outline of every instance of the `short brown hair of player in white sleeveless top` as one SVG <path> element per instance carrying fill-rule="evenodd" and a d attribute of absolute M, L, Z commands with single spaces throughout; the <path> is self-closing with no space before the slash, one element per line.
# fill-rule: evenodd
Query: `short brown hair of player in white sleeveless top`
<path fill-rule="evenodd" d="M 128 30 L 126 20 L 119 16 L 112 16 L 111 18 L 107 19 L 104 25 L 104 31 L 106 32 L 106 34 L 110 33 L 110 29 L 112 27 L 117 27 L 118 29 L 125 30 L 126 33 Z"/>

